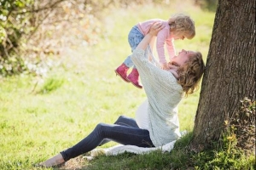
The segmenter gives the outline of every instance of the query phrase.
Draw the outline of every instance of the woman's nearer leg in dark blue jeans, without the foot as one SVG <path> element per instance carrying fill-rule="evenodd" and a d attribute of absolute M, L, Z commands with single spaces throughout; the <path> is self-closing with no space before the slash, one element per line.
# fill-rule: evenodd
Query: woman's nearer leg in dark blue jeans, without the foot
<path fill-rule="evenodd" d="M 131 144 L 140 147 L 154 147 L 149 137 L 148 130 L 139 127 L 123 125 L 109 125 L 99 123 L 86 138 L 75 144 L 72 148 L 61 152 L 65 161 L 89 152 L 102 143 L 103 139 L 110 139 L 119 144 Z"/>

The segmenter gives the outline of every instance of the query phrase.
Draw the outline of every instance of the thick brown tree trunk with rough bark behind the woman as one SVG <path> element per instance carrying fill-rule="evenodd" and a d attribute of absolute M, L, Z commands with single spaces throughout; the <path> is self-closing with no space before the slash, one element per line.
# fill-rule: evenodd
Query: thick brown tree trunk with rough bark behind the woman
<path fill-rule="evenodd" d="M 255 100 L 255 1 L 219 0 L 190 148 L 218 141 L 240 100 Z"/>

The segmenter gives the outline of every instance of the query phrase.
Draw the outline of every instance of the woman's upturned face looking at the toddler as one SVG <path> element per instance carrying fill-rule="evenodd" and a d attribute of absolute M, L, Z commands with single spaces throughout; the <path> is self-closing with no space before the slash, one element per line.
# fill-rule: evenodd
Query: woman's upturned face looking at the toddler
<path fill-rule="evenodd" d="M 190 56 L 193 56 L 194 54 L 194 51 L 186 51 L 183 49 L 177 55 L 172 57 L 170 64 L 175 66 L 181 66 L 189 59 Z"/>

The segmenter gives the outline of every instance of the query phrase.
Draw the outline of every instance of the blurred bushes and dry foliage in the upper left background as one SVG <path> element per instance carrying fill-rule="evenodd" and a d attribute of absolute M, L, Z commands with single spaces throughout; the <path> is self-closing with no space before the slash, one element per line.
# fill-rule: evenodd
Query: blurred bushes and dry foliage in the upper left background
<path fill-rule="evenodd" d="M 213 0 L 195 0 L 196 3 Z M 102 33 L 106 8 L 170 0 L 0 0 L 0 77 L 44 75 L 60 49 L 79 38 L 94 45 Z M 71 37 L 76 35 L 77 37 Z"/>

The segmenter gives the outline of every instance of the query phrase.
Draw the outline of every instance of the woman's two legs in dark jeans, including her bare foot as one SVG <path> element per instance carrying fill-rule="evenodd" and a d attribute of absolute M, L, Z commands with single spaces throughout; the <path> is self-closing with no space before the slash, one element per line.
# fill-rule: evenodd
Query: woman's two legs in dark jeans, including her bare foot
<path fill-rule="evenodd" d="M 134 144 L 143 147 L 154 146 L 149 138 L 148 130 L 140 129 L 134 119 L 127 116 L 119 116 L 118 120 L 114 122 L 114 124 L 115 125 L 107 125 L 100 123 L 89 136 L 84 138 L 78 144 L 68 150 L 62 151 L 61 154 L 49 158 L 47 161 L 40 163 L 40 165 L 43 167 L 51 167 L 61 164 L 72 157 L 76 157 L 87 151 L 93 150 L 101 140 L 101 144 L 103 144 L 104 141 L 107 143 L 108 141 L 113 140 L 120 144 Z M 115 137 L 117 138 L 115 139 Z M 134 141 L 130 143 L 130 140 L 133 139 Z M 87 148 L 87 146 L 90 147 Z"/>

